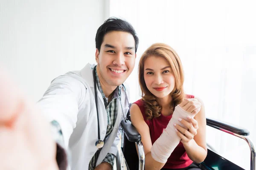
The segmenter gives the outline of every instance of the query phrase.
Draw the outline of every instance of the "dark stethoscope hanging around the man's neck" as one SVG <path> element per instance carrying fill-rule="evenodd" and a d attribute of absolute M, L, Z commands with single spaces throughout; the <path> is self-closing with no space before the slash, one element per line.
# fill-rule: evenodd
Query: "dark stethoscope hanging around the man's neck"
<path fill-rule="evenodd" d="M 102 148 L 102 147 L 104 146 L 104 141 L 100 139 L 99 109 L 98 109 L 98 93 L 97 93 L 95 69 L 96 69 L 96 66 L 93 68 L 94 94 L 95 94 L 95 104 L 96 104 L 97 120 L 98 120 L 98 140 L 96 141 L 95 146 L 99 149 L 99 148 Z M 119 101 L 120 101 L 121 108 L 122 108 L 122 102 L 121 102 L 121 100 L 122 100 L 122 99 L 121 99 L 121 89 L 122 89 L 122 88 L 123 88 L 123 90 L 125 91 L 125 99 L 126 99 L 126 101 L 128 102 L 128 105 L 129 105 L 128 96 L 127 96 L 127 94 L 126 94 L 126 89 L 125 89 L 125 86 L 122 84 L 122 85 L 121 85 L 121 88 L 119 88 L 119 91 L 118 91 L 118 99 L 119 99 Z M 129 111 L 130 111 L 130 105 L 129 105 Z M 123 108 L 122 108 L 122 114 L 123 114 L 123 116 L 124 116 L 125 122 L 127 122 L 128 118 L 125 117 L 125 113 L 124 113 L 124 111 L 123 111 Z"/>

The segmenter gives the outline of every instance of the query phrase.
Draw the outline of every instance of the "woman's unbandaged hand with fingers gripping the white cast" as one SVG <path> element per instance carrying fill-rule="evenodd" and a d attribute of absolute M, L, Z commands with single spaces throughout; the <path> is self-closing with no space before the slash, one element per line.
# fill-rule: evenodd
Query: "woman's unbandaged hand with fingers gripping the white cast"
<path fill-rule="evenodd" d="M 188 121 L 185 119 L 178 119 L 185 128 L 174 124 L 177 135 L 181 138 L 180 142 L 183 144 L 188 144 L 192 139 L 194 139 L 198 130 L 198 122 L 190 116 L 187 116 L 187 119 Z"/>

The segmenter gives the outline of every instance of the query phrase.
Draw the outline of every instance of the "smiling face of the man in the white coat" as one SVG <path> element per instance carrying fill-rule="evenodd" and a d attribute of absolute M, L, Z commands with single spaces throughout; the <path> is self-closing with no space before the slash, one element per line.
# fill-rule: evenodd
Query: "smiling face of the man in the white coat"
<path fill-rule="evenodd" d="M 103 38 L 100 52 L 96 49 L 100 80 L 110 86 L 121 85 L 134 69 L 135 58 L 135 40 L 131 33 L 108 32 Z"/>

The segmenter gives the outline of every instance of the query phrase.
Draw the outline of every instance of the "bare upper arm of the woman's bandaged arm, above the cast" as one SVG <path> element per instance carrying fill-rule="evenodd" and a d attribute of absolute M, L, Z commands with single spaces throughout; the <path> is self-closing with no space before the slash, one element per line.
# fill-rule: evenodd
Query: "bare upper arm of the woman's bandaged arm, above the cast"
<path fill-rule="evenodd" d="M 138 105 L 131 105 L 130 114 L 132 124 L 134 125 L 134 127 L 136 127 L 137 131 L 141 135 L 141 142 L 143 143 L 145 152 L 145 170 L 160 170 L 165 165 L 165 163 L 163 164 L 158 161 L 155 161 L 151 156 L 150 150 L 152 147 L 152 142 L 149 133 L 149 128 L 146 122 L 144 121 L 144 118 Z"/>

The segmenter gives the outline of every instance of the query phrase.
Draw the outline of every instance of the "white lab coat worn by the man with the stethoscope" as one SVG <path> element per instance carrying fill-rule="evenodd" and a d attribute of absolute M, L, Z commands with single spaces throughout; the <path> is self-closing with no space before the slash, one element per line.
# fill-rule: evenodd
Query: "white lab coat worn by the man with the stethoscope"
<path fill-rule="evenodd" d="M 127 86 L 126 91 L 128 94 Z M 102 94 L 98 90 L 98 107 L 100 135 L 104 140 L 107 129 L 107 113 Z M 87 170 L 88 164 L 96 153 L 98 140 L 97 112 L 94 98 L 93 71 L 87 64 L 81 71 L 72 71 L 55 78 L 44 96 L 38 101 L 38 106 L 49 121 L 56 120 L 64 136 L 64 145 L 71 154 L 71 170 Z M 124 113 L 128 111 L 125 92 L 122 91 L 122 106 Z M 117 153 L 119 143 L 119 124 L 123 119 L 122 108 L 118 100 L 118 115 L 113 131 L 108 136 L 102 148 L 97 165 L 102 162 L 107 153 Z"/>

